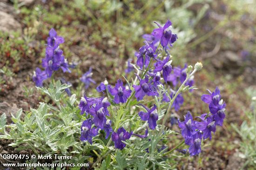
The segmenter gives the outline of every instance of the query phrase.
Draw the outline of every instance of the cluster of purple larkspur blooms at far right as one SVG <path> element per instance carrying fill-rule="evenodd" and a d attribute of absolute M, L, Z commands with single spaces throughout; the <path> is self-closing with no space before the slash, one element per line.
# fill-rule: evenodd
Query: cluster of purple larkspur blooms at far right
<path fill-rule="evenodd" d="M 181 122 L 178 120 L 181 133 L 185 139 L 185 144 L 189 145 L 189 153 L 191 156 L 198 155 L 201 152 L 202 139 L 212 138 L 211 132 L 216 132 L 216 125 L 222 126 L 223 119 L 225 118 L 225 107 L 221 99 L 220 90 L 216 90 L 209 94 L 202 95 L 202 101 L 209 104 L 210 113 L 204 113 L 197 117 L 201 121 L 193 120 L 190 113 L 187 113 L 185 120 Z"/>

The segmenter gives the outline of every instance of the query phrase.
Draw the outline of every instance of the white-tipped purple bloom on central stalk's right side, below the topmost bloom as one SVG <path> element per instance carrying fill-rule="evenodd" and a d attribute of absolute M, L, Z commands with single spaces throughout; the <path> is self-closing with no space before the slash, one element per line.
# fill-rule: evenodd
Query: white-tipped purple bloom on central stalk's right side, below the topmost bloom
<path fill-rule="evenodd" d="M 170 57 L 168 56 L 163 61 L 159 60 L 154 64 L 155 66 L 154 73 L 162 71 L 163 79 L 165 82 L 167 82 L 167 78 L 172 72 L 172 66 L 171 66 L 172 60 L 169 61 L 169 58 Z"/>

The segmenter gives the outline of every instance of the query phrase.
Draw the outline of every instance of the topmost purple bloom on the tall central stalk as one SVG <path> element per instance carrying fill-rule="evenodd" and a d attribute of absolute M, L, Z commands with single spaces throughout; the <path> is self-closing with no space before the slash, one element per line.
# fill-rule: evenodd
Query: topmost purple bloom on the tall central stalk
<path fill-rule="evenodd" d="M 170 44 L 172 46 L 172 44 L 177 39 L 177 35 L 172 34 L 172 31 L 171 31 L 172 23 L 171 23 L 171 21 L 168 20 L 163 27 L 161 25 L 159 25 L 157 22 L 155 22 L 155 24 L 159 28 L 154 29 L 153 32 L 152 32 L 152 35 L 155 38 L 160 39 L 160 43 L 161 43 L 163 48 L 165 48 L 168 44 Z M 173 36 L 174 36 L 174 38 L 172 38 Z"/>

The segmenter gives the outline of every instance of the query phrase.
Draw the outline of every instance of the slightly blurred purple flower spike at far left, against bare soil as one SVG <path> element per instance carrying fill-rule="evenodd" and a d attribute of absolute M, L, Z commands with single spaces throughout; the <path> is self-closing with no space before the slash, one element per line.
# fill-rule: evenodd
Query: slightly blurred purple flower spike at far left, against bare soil
<path fill-rule="evenodd" d="M 64 43 L 64 38 L 57 35 L 56 31 L 52 28 L 49 31 L 47 38 L 47 47 L 45 58 L 42 59 L 42 66 L 44 70 L 36 68 L 33 76 L 33 81 L 36 86 L 41 87 L 43 81 L 51 77 L 54 71 L 62 69 L 63 72 L 71 72 L 67 59 L 63 56 L 63 51 L 60 49 L 60 44 Z"/>

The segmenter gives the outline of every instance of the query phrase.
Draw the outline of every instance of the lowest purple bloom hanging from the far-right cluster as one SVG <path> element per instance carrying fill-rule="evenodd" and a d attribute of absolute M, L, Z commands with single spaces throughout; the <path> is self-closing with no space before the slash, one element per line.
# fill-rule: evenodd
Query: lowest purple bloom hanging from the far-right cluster
<path fill-rule="evenodd" d="M 201 140 L 202 133 L 197 131 L 191 138 L 185 140 L 186 144 L 189 145 L 190 156 L 198 155 L 201 152 Z"/>

